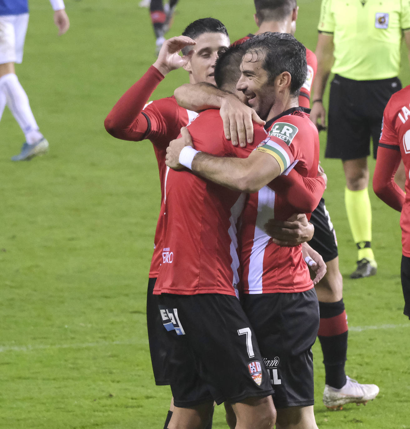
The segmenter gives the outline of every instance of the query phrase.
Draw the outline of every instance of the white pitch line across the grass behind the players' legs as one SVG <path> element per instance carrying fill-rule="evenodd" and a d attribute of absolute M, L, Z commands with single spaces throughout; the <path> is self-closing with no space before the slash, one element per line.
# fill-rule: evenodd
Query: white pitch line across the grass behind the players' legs
<path fill-rule="evenodd" d="M 363 332 L 370 330 L 382 330 L 382 329 L 397 329 L 397 328 L 408 328 L 410 323 L 401 323 L 399 325 L 373 325 L 373 326 L 349 326 L 351 332 Z M 136 344 L 148 344 L 148 340 L 129 340 L 129 341 L 96 341 L 92 343 L 80 343 L 80 344 L 36 344 L 36 345 L 22 345 L 22 346 L 1 346 L 0 353 L 7 351 L 31 351 L 31 350 L 46 350 L 46 349 L 64 349 L 64 348 L 89 348 L 89 347 L 104 347 L 111 345 L 136 345 Z"/>

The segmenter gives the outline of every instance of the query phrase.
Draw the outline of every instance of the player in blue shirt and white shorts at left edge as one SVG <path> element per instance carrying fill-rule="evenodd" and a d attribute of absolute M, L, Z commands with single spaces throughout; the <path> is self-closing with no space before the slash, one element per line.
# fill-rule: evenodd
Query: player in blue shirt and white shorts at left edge
<path fill-rule="evenodd" d="M 63 0 L 50 0 L 58 35 L 70 27 Z M 30 103 L 15 74 L 15 63 L 23 60 L 28 26 L 28 0 L 0 0 L 0 119 L 6 105 L 25 136 L 21 153 L 13 161 L 30 160 L 47 151 L 49 143 L 40 133 Z"/>

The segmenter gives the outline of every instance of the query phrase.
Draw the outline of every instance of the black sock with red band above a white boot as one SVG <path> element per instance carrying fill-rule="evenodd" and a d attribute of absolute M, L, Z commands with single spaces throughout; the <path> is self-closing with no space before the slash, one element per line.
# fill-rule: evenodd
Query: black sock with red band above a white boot
<path fill-rule="evenodd" d="M 318 338 L 323 352 L 326 384 L 340 389 L 346 384 L 347 317 L 343 298 L 338 302 L 320 302 Z"/>

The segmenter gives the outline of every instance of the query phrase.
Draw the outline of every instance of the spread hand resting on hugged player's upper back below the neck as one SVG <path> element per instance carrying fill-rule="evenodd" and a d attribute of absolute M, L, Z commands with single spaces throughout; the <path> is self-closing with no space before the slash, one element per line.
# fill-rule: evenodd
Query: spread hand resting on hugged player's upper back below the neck
<path fill-rule="evenodd" d="M 239 145 L 243 148 L 246 142 L 254 141 L 254 125 L 265 125 L 265 121 L 259 118 L 257 113 L 249 106 L 243 104 L 234 95 L 227 95 L 223 98 L 220 107 L 220 116 L 223 121 L 223 131 L 226 138 L 232 140 L 234 146 Z"/>

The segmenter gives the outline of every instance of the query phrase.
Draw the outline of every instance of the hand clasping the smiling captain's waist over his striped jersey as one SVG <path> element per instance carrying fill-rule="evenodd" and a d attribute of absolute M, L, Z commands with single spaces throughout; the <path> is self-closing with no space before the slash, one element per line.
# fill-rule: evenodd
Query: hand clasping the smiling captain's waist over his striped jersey
<path fill-rule="evenodd" d="M 315 228 L 304 213 L 292 215 L 287 221 L 269 219 L 265 231 L 279 246 L 297 246 L 312 239 Z"/>

